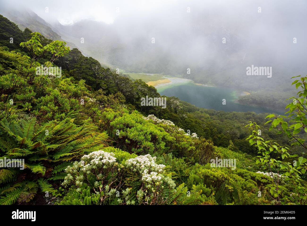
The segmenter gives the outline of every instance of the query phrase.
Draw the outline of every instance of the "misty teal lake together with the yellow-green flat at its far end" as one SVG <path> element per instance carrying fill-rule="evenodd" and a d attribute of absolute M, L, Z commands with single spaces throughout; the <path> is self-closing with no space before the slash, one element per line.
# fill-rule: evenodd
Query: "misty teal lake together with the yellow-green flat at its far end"
<path fill-rule="evenodd" d="M 168 77 L 161 74 L 127 73 L 132 79 L 141 79 L 146 84 L 154 86 L 160 95 L 175 96 L 195 105 L 196 107 L 214 109 L 216 111 L 254 111 L 255 113 L 284 112 L 262 106 L 252 106 L 238 102 L 240 96 L 250 95 L 249 92 L 233 88 L 225 88 L 207 84 L 194 83 L 190 79 Z M 226 99 L 226 104 L 222 100 Z"/>

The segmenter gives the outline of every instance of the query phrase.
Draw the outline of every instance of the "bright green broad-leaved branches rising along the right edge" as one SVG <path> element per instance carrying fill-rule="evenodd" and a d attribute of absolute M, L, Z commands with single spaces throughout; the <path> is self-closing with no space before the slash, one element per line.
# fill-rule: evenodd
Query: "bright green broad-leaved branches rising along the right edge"
<path fill-rule="evenodd" d="M 289 109 L 286 114 L 289 113 L 289 115 L 268 115 L 266 118 L 273 120 L 269 120 L 266 123 L 271 124 L 270 130 L 277 126 L 281 127 L 278 133 L 284 132 L 290 138 L 292 146 L 302 146 L 307 149 L 304 138 L 307 133 L 307 129 L 304 129 L 307 123 L 307 90 L 305 86 L 307 77 L 296 77 L 300 77 L 300 80 L 295 80 L 292 84 L 295 84 L 296 88 L 302 88 L 302 90 L 297 93 L 297 98 L 290 98 L 293 99 L 293 103 L 288 104 L 286 107 Z M 269 185 L 268 188 L 275 204 L 306 204 L 307 189 L 306 181 L 303 180 L 307 170 L 306 158 L 303 156 L 298 157 L 297 154 L 290 154 L 288 147 L 281 146 L 277 142 L 272 140 L 264 141 L 256 132 L 259 128 L 257 123 L 249 122 L 247 127 L 251 131 L 251 135 L 247 138 L 250 145 L 255 145 L 258 148 L 259 160 L 257 160 L 257 163 L 265 166 L 273 178 L 274 183 Z M 290 159 L 288 160 L 289 162 L 287 159 Z M 280 185 L 282 179 L 293 185 L 292 191 L 288 191 L 286 187 Z"/>

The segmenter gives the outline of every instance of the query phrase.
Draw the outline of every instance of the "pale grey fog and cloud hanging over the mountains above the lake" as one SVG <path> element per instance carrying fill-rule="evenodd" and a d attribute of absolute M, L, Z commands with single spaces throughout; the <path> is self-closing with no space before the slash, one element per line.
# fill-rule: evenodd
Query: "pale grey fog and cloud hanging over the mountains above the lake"
<path fill-rule="evenodd" d="M 223 85 L 257 81 L 258 87 L 288 84 L 290 77 L 307 74 L 304 0 L 14 0 L 2 1 L 1 8 L 4 16 L 33 11 L 86 56 L 127 72 Z M 272 67 L 272 78 L 248 77 L 251 65 Z"/>

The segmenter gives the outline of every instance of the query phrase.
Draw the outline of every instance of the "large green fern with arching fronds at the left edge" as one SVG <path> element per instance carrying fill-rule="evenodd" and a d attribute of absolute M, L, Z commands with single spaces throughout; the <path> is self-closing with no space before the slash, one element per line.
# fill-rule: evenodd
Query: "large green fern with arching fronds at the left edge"
<path fill-rule="evenodd" d="M 93 127 L 76 126 L 73 120 L 50 121 L 43 125 L 37 124 L 35 119 L 28 122 L 21 120 L 19 123 L 8 123 L 6 119 L 0 121 L 0 158 L 12 161 L 15 159 L 15 162 L 24 163 L 23 166 L 14 165 L 15 167 L 1 169 L 0 184 L 4 187 L 7 185 L 14 187 L 19 186 L 19 181 L 26 181 L 24 186 L 20 185 L 23 188 L 22 197 L 27 196 L 26 193 L 30 194 L 25 199 L 26 202 L 33 199 L 37 193 L 37 186 L 29 187 L 36 181 L 41 191 L 55 193 L 52 185 L 47 184 L 42 178 L 63 179 L 64 167 L 69 164 L 60 162 L 78 159 L 106 145 L 106 134 L 96 133 Z M 41 178 L 38 179 L 39 177 Z M 12 191 L 3 190 L 1 197 L 3 195 L 11 197 L 10 192 Z M 15 201 L 24 199 L 13 197 Z"/>

